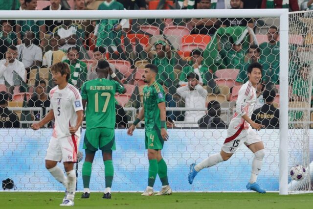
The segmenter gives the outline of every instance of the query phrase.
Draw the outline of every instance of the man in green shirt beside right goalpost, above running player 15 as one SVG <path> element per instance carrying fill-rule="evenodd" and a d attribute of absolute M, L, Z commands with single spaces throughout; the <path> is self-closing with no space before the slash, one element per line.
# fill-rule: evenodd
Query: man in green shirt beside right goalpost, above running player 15
<path fill-rule="evenodd" d="M 266 61 L 270 67 L 279 63 L 279 31 L 276 26 L 268 28 L 268 42 L 260 44 L 261 60 Z"/>

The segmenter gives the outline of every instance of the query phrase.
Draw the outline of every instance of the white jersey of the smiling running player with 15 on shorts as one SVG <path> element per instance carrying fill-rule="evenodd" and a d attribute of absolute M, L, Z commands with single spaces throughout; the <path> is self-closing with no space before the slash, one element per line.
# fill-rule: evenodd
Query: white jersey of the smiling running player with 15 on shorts
<path fill-rule="evenodd" d="M 247 81 L 239 90 L 236 101 L 236 112 L 229 123 L 229 129 L 239 129 L 240 127 L 248 129 L 250 127 L 250 124 L 242 116 L 247 114 L 251 118 L 255 102 L 256 90 L 250 81 Z"/>

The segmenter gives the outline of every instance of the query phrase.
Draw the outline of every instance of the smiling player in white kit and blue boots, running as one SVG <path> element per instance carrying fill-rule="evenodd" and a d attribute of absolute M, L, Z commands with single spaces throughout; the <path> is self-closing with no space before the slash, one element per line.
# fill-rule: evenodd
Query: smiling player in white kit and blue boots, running
<path fill-rule="evenodd" d="M 224 141 L 221 152 L 209 156 L 199 164 L 191 164 L 188 175 L 189 184 L 193 183 L 194 178 L 200 170 L 227 161 L 235 153 L 237 148 L 244 143 L 254 153 L 251 177 L 246 188 L 259 193 L 266 193 L 266 191 L 260 188 L 256 183 L 263 164 L 265 152 L 260 136 L 253 130 L 260 130 L 265 126 L 251 120 L 253 107 L 256 102 L 255 88 L 262 77 L 262 65 L 260 63 L 252 63 L 247 69 L 247 75 L 249 80 L 239 90 L 238 99 L 236 101 L 236 112 L 230 121 L 227 129 L 227 138 Z"/>

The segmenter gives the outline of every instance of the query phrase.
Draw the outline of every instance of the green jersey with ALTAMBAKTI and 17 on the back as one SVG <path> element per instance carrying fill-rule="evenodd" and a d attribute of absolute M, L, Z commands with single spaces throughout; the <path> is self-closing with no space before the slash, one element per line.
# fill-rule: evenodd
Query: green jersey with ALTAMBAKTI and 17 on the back
<path fill-rule="evenodd" d="M 116 92 L 122 93 L 124 87 L 118 82 L 104 78 L 87 81 L 82 86 L 82 99 L 87 100 L 86 126 L 92 128 L 114 128 Z"/>

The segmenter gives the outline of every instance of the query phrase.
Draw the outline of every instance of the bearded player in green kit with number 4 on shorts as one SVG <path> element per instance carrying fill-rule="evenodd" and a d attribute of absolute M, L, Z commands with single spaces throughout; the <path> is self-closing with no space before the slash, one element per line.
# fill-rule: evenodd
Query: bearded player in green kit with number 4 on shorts
<path fill-rule="evenodd" d="M 133 136 L 136 125 L 143 117 L 145 118 L 145 147 L 148 149 L 149 174 L 148 186 L 141 194 L 143 196 L 154 194 L 153 186 L 157 174 L 162 182 L 162 189 L 156 195 L 172 194 L 167 179 L 167 165 L 161 155 L 164 140 L 167 141 L 168 139 L 165 124 L 165 93 L 162 86 L 156 82 L 156 75 L 156 65 L 148 64 L 145 66 L 143 78 L 147 86 L 143 88 L 143 108 L 133 125 L 127 130 L 127 134 Z"/>

